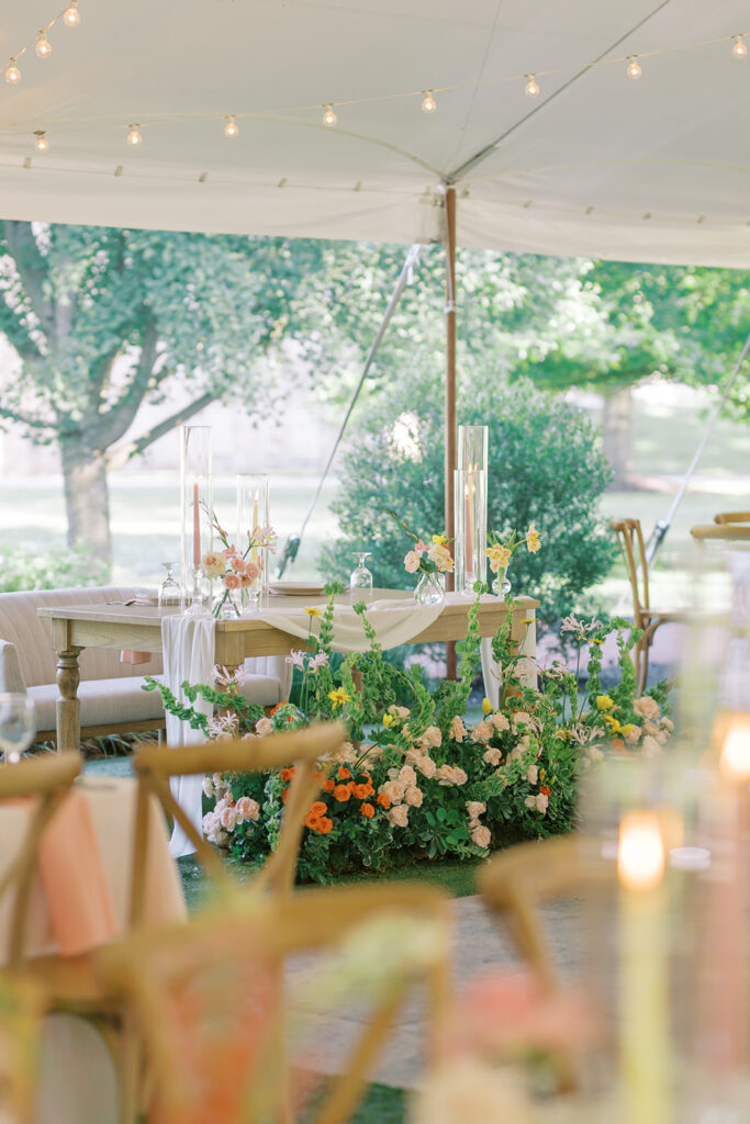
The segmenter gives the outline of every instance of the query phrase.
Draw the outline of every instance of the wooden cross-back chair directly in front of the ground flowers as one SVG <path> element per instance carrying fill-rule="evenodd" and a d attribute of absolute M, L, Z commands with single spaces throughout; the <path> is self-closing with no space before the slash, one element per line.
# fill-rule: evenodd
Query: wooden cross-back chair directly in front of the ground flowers
<path fill-rule="evenodd" d="M 216 772 L 265 772 L 295 764 L 278 845 L 253 880 L 256 890 L 287 894 L 295 883 L 304 819 L 324 779 L 316 768 L 317 761 L 333 754 L 344 740 L 345 732 L 341 723 L 317 723 L 304 729 L 247 741 L 208 742 L 175 749 L 142 746 L 134 760 L 139 785 L 132 924 L 137 925 L 143 918 L 148 853 L 148 800 L 152 794 L 161 800 L 168 816 L 180 824 L 196 849 L 198 861 L 215 886 L 226 891 L 233 885 L 226 863 L 177 803 L 170 789 L 170 779 Z"/>

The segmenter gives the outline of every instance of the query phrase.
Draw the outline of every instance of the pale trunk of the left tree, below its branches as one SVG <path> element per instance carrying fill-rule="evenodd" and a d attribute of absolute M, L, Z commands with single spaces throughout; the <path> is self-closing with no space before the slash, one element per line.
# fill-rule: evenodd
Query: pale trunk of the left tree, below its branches
<path fill-rule="evenodd" d="M 109 533 L 109 489 L 107 468 L 100 452 L 81 443 L 61 444 L 67 543 L 89 546 L 96 558 L 109 561 L 112 541 Z"/>

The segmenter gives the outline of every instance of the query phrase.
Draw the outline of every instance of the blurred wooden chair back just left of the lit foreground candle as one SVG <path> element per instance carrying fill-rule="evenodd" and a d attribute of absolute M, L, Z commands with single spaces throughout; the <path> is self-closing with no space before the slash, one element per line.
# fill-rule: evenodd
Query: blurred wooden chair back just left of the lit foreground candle
<path fill-rule="evenodd" d="M 559 987 L 554 958 L 539 913 L 540 905 L 584 888 L 613 885 L 616 864 L 595 854 L 575 833 L 552 840 L 519 843 L 494 855 L 477 873 L 477 888 L 487 908 L 504 926 L 518 955 L 548 992 Z M 577 1085 L 572 1057 L 555 1059 L 558 1090 Z"/>

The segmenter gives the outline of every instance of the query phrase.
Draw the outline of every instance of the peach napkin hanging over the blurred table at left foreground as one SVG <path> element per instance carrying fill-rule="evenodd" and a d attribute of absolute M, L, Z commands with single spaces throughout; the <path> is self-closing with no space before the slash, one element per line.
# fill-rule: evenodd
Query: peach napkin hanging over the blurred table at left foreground
<path fill-rule="evenodd" d="M 64 957 L 90 952 L 117 936 L 99 841 L 82 792 L 69 792 L 47 824 L 38 865 L 52 931 Z"/>

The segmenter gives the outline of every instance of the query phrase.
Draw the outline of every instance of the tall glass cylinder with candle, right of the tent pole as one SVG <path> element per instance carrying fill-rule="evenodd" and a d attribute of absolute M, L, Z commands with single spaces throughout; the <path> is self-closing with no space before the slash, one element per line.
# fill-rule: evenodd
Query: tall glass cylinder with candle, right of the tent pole
<path fill-rule="evenodd" d="M 487 573 L 488 441 L 486 425 L 459 426 L 458 471 L 467 474 L 461 493 L 454 491 L 455 588 L 459 592 L 473 593 L 475 582 L 484 581 Z"/>

